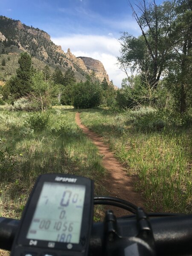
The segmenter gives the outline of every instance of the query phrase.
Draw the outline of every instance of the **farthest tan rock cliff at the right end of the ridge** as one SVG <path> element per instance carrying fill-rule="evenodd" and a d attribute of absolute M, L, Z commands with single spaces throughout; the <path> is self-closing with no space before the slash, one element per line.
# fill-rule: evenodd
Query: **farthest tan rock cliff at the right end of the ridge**
<path fill-rule="evenodd" d="M 87 67 L 88 72 L 91 74 L 93 71 L 96 74 L 96 77 L 102 81 L 104 78 L 107 79 L 109 83 L 109 76 L 102 64 L 101 61 L 95 60 L 89 57 L 78 57 L 84 62 L 85 66 Z"/>

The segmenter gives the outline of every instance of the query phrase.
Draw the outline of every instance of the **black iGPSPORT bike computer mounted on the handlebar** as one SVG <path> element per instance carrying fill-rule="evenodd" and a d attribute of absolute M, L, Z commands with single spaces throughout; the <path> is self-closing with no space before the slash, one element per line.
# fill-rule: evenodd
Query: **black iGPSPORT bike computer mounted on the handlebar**
<path fill-rule="evenodd" d="M 92 180 L 41 175 L 23 211 L 11 256 L 86 256 L 92 221 Z"/>

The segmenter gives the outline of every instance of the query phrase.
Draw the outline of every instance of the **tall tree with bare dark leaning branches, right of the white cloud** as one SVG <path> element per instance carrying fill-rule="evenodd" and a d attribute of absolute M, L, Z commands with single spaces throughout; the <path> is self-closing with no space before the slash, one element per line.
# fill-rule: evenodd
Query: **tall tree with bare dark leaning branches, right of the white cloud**
<path fill-rule="evenodd" d="M 121 57 L 118 58 L 123 70 L 126 68 L 139 68 L 140 72 L 147 71 L 145 77 L 151 87 L 157 88 L 162 72 L 166 70 L 167 63 L 172 55 L 175 44 L 170 40 L 173 33 L 173 23 L 176 18 L 174 1 L 166 1 L 157 6 L 155 1 L 146 5 L 135 7 L 130 3 L 133 15 L 139 25 L 142 36 L 135 38 L 123 33 Z"/>

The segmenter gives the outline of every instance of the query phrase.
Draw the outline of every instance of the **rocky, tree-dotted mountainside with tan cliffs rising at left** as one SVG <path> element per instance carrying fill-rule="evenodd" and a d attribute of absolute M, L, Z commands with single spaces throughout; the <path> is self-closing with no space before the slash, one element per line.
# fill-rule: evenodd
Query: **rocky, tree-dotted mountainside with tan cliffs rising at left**
<path fill-rule="evenodd" d="M 75 72 L 77 81 L 85 81 L 87 74 L 92 74 L 102 81 L 104 78 L 109 81 L 108 74 L 100 61 L 91 59 L 92 65 L 87 66 L 85 57 L 76 58 L 70 51 L 64 52 L 61 46 L 51 41 L 50 35 L 41 29 L 26 26 L 20 20 L 13 20 L 0 16 L 0 61 L 8 58 L 6 66 L 0 69 L 0 80 L 6 81 L 15 74 L 17 61 L 20 52 L 26 51 L 33 57 L 36 69 L 42 69 L 49 65 L 53 70 L 56 66 L 62 72 L 71 68 Z M 99 67 L 99 68 L 98 68 Z"/>

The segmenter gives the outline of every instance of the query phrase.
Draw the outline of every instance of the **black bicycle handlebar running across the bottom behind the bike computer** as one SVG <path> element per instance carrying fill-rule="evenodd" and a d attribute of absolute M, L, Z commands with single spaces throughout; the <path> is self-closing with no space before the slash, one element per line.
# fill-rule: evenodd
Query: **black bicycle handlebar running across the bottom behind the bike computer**
<path fill-rule="evenodd" d="M 151 216 L 149 218 L 157 255 L 192 254 L 192 215 Z M 0 218 L 0 248 L 11 250 L 18 225 L 19 220 Z M 135 215 L 118 218 L 116 226 L 121 237 L 137 236 L 137 218 Z M 93 223 L 89 255 L 106 255 L 105 240 L 105 222 Z M 114 246 L 118 246 L 118 243 L 113 243 Z"/>

